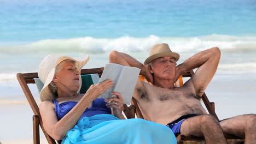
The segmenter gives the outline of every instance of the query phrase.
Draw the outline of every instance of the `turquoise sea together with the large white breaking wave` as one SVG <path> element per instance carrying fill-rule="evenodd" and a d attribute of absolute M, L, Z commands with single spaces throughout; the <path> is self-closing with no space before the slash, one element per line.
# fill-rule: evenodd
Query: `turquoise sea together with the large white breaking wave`
<path fill-rule="evenodd" d="M 256 2 L 1 1 L 0 52 L 256 51 Z"/>

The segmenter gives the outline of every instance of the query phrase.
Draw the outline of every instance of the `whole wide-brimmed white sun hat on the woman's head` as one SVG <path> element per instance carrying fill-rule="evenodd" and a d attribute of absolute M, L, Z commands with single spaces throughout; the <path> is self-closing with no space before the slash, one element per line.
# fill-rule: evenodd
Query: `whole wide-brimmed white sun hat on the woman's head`
<path fill-rule="evenodd" d="M 40 63 L 39 70 L 38 70 L 38 77 L 44 83 L 44 87 L 40 92 L 41 101 L 53 100 L 55 98 L 55 96 L 50 92 L 48 85 L 54 78 L 56 66 L 62 61 L 65 61 L 67 59 L 75 61 L 75 67 L 77 67 L 77 70 L 80 71 L 84 67 L 84 65 L 89 61 L 89 56 L 75 57 L 75 58 L 68 57 L 68 56 L 60 56 L 56 54 L 46 56 L 44 60 Z M 79 75 L 79 83 L 80 83 L 80 87 L 78 89 L 78 92 L 80 91 L 80 88 L 82 86 L 82 80 L 80 75 Z"/>

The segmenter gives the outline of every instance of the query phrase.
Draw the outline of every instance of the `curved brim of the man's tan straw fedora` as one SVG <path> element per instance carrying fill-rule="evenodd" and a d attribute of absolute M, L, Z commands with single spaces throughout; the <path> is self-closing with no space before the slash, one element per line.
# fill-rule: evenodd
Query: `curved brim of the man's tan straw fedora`
<path fill-rule="evenodd" d="M 179 54 L 176 52 L 162 52 L 148 57 L 145 60 L 144 65 L 149 64 L 151 61 L 159 57 L 174 57 L 176 62 L 179 60 Z"/>

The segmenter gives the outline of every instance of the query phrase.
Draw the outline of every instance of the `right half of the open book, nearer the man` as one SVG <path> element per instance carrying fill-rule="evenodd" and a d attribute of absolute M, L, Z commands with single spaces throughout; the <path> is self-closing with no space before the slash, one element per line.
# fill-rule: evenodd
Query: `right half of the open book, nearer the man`
<path fill-rule="evenodd" d="M 133 91 L 138 80 L 141 69 L 135 67 L 124 67 L 113 91 L 121 93 L 124 103 L 130 105 Z"/>

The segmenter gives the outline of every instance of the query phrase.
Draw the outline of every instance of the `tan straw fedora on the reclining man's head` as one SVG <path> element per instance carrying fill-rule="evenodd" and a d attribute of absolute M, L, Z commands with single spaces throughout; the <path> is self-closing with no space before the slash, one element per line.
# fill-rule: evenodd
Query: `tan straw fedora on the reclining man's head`
<path fill-rule="evenodd" d="M 144 65 L 159 57 L 174 57 L 176 62 L 179 60 L 179 54 L 172 52 L 168 44 L 157 44 L 151 47 L 149 57 L 145 60 Z"/>

